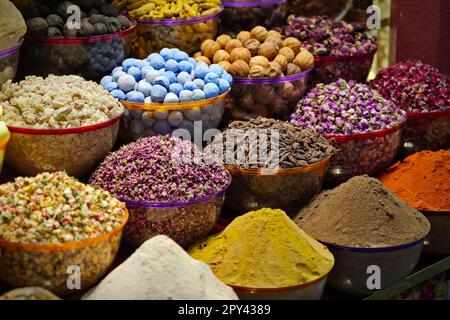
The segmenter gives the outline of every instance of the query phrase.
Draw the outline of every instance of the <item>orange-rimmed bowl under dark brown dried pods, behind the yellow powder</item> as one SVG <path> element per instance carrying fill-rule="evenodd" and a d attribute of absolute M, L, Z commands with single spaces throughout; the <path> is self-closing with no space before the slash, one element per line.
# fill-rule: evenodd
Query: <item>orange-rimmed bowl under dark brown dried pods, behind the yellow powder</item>
<path fill-rule="evenodd" d="M 321 189 L 330 158 L 292 169 L 238 169 L 228 167 L 233 180 L 225 206 L 234 215 L 261 208 L 277 208 L 294 216 Z"/>

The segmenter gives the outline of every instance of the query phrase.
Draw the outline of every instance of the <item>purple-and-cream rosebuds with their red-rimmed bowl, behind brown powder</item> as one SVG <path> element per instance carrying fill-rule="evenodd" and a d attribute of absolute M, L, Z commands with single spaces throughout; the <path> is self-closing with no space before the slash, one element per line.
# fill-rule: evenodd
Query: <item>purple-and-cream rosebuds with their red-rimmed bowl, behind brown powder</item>
<path fill-rule="evenodd" d="M 405 120 L 404 111 L 367 85 L 342 79 L 329 85 L 318 84 L 291 115 L 295 125 L 341 138 L 336 140 L 339 151 L 331 158 L 328 170 L 331 184 L 355 175 L 375 175 L 389 166 L 400 144 L 400 130 L 396 127 Z M 352 137 L 367 133 L 372 136 Z"/>

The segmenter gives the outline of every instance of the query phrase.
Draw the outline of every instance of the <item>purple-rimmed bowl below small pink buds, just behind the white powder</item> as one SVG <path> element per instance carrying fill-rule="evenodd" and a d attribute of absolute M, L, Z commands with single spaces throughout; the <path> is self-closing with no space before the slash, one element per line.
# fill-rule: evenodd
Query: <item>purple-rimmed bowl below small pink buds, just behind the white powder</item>
<path fill-rule="evenodd" d="M 164 234 L 188 248 L 206 238 L 213 229 L 228 186 L 229 183 L 216 194 L 181 203 L 122 200 L 130 213 L 124 241 L 137 248 L 146 240 Z"/>

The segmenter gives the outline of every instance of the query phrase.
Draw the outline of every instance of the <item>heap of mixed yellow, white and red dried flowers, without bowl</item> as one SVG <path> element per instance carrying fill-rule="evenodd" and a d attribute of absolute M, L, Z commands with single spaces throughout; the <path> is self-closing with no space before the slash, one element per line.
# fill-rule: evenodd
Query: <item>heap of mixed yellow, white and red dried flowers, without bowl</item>
<path fill-rule="evenodd" d="M 123 224 L 125 205 L 64 172 L 0 186 L 0 240 L 65 243 L 96 238 Z"/>

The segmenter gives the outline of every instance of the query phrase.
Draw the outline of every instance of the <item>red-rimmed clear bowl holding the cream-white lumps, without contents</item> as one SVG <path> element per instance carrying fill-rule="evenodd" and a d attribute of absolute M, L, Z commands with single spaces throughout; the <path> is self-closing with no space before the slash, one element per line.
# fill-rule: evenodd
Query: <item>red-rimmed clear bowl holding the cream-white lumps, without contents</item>
<path fill-rule="evenodd" d="M 117 141 L 119 117 L 107 122 L 68 129 L 31 129 L 8 126 L 11 139 L 6 163 L 21 175 L 66 171 L 84 177 L 106 157 Z"/>

